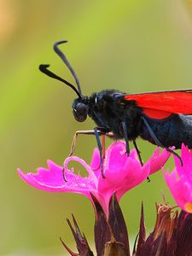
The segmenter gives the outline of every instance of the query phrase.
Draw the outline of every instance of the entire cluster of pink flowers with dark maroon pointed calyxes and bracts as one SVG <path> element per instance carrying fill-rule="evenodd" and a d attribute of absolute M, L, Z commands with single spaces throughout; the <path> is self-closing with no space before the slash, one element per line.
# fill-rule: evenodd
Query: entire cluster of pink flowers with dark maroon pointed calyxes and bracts
<path fill-rule="evenodd" d="M 125 192 L 136 187 L 154 172 L 163 169 L 170 153 L 160 148 L 142 166 L 137 159 L 137 151 L 133 149 L 129 157 L 125 154 L 125 143 L 116 142 L 109 146 L 103 160 L 103 174 L 98 149 L 94 150 L 90 166 L 77 156 L 68 157 L 62 166 L 48 161 L 48 169 L 40 167 L 37 173 L 24 174 L 18 170 L 20 177 L 26 183 L 37 189 L 50 192 L 73 192 L 85 195 L 92 202 L 96 212 L 95 242 L 98 256 L 131 255 L 128 232 L 125 220 L 119 207 L 119 200 Z M 172 207 L 156 205 L 157 218 L 154 231 L 146 237 L 143 207 L 138 239 L 135 241 L 132 255 L 192 255 L 192 152 L 182 146 L 183 163 L 174 157 L 175 168 L 170 173 L 163 169 L 168 188 L 183 209 L 180 214 L 173 212 Z M 84 166 L 87 177 L 75 174 L 68 164 L 77 161 Z M 63 177 L 63 170 L 65 178 Z M 73 224 L 67 219 L 73 232 L 79 253 L 73 253 L 61 240 L 67 252 L 71 255 L 92 256 L 88 242 L 79 230 L 73 217 Z M 73 228 L 74 225 L 74 228 Z"/>

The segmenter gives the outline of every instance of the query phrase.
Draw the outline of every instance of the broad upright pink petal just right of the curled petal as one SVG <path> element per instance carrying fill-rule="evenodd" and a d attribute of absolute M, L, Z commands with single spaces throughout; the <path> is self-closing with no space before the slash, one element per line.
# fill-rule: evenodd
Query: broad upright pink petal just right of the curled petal
<path fill-rule="evenodd" d="M 105 178 L 100 178 L 98 183 L 98 191 L 104 195 L 106 208 L 114 192 L 119 200 L 125 192 L 142 183 L 148 177 L 149 170 L 149 164 L 141 166 L 135 149 L 127 157 L 125 143 L 113 143 L 106 154 Z"/>

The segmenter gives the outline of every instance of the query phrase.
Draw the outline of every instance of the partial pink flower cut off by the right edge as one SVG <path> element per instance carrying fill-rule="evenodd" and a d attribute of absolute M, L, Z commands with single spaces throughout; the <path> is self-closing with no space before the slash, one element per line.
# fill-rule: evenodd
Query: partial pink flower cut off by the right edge
<path fill-rule="evenodd" d="M 172 173 L 164 171 L 166 183 L 177 205 L 185 212 L 192 212 L 192 151 L 182 145 L 180 160 L 174 156 L 175 168 Z"/>

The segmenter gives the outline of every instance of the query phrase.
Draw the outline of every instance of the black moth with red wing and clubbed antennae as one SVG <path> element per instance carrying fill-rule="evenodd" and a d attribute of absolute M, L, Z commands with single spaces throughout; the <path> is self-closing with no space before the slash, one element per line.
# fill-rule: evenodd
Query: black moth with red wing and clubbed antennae
<path fill-rule="evenodd" d="M 150 143 L 176 154 L 170 147 L 181 148 L 182 143 L 192 148 L 192 90 L 155 91 L 139 94 L 127 94 L 119 90 L 102 90 L 91 96 L 83 96 L 79 79 L 66 55 L 58 48 L 63 40 L 54 44 L 54 50 L 73 75 L 77 88 L 65 79 L 49 71 L 49 65 L 40 65 L 39 69 L 52 79 L 57 79 L 71 87 L 77 94 L 73 101 L 73 115 L 79 122 L 84 122 L 89 115 L 96 123 L 90 131 L 76 131 L 71 148 L 74 153 L 75 142 L 79 134 L 96 136 L 100 151 L 101 166 L 103 143 L 100 135 L 113 139 L 125 139 L 126 152 L 129 154 L 129 142 L 132 141 L 141 163 L 136 139 L 142 137 Z M 181 160 L 181 159 L 180 159 Z M 182 160 L 181 160 L 182 162 Z"/>

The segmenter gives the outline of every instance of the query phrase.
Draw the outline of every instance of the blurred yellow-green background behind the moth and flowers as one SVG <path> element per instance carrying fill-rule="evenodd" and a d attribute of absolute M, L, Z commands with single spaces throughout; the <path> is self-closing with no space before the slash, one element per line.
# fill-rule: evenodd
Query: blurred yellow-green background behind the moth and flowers
<path fill-rule="evenodd" d="M 0 255 L 64 255 L 59 237 L 74 248 L 65 221 L 74 213 L 90 244 L 94 212 L 81 195 L 51 194 L 26 185 L 16 172 L 33 172 L 46 160 L 62 164 L 77 123 L 75 94 L 38 71 L 40 63 L 73 82 L 52 50 L 57 40 L 79 75 L 84 95 L 192 87 L 192 2 L 189 0 L 0 0 Z M 177 102 L 176 102 L 177 104 Z M 108 142 L 110 143 L 110 142 Z M 138 140 L 143 159 L 154 146 Z M 79 137 L 76 154 L 87 162 L 94 137 Z M 172 169 L 172 161 L 168 166 Z M 161 173 L 121 201 L 132 239 L 143 201 L 148 231 L 161 191 L 172 205 Z"/>

